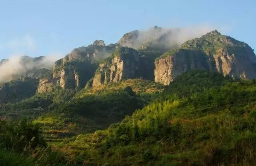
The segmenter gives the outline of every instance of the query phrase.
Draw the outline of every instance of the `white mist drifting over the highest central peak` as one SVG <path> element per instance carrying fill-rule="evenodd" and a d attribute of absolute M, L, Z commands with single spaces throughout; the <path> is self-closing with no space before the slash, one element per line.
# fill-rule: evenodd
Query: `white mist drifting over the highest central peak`
<path fill-rule="evenodd" d="M 126 40 L 124 43 L 120 43 L 120 41 L 119 43 L 135 49 L 143 48 L 145 44 L 149 44 L 152 47 L 172 49 L 179 47 L 185 41 L 199 38 L 213 29 L 208 26 L 193 26 L 188 28 L 159 28 L 155 26 L 148 30 L 134 31 L 136 34 L 134 37 Z"/>

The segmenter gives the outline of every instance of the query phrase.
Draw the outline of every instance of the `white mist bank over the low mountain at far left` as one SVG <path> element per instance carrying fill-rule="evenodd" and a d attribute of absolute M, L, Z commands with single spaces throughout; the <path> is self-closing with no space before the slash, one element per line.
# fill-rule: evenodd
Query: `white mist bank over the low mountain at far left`
<path fill-rule="evenodd" d="M 48 55 L 46 57 L 28 57 L 13 55 L 10 59 L 0 62 L 0 83 L 11 81 L 26 76 L 29 71 L 36 69 L 52 69 L 60 55 Z"/>

